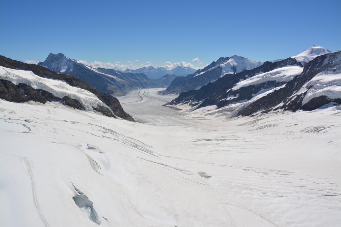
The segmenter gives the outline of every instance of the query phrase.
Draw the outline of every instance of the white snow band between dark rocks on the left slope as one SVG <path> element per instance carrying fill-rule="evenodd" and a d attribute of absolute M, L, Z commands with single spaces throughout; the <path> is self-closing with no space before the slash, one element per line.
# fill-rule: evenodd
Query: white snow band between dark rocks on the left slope
<path fill-rule="evenodd" d="M 1 66 L 0 79 L 11 81 L 16 85 L 19 83 L 28 84 L 32 88 L 50 92 L 58 98 L 69 96 L 72 99 L 78 100 L 82 107 L 87 111 L 93 111 L 93 107 L 97 108 L 98 105 L 106 107 L 112 111 L 93 93 L 78 87 L 73 87 L 61 80 L 53 80 L 37 76 L 32 71 L 10 69 Z"/>

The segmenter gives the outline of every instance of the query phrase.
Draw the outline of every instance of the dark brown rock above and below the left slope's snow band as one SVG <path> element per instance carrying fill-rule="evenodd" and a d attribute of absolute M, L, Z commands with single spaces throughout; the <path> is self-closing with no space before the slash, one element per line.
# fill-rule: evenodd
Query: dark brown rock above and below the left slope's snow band
<path fill-rule="evenodd" d="M 0 65 L 7 67 L 7 68 L 11 68 L 11 69 L 30 70 L 37 76 L 51 78 L 55 80 L 62 80 L 71 86 L 75 86 L 75 87 L 79 87 L 84 90 L 87 90 L 95 94 L 102 102 L 104 102 L 113 111 L 113 113 L 116 116 L 121 117 L 123 119 L 131 120 L 131 121 L 134 120 L 129 114 L 124 112 L 117 98 L 93 88 L 93 86 L 91 86 L 89 83 L 83 80 L 80 80 L 74 76 L 71 76 L 68 74 L 57 73 L 55 71 L 52 71 L 40 65 L 26 64 L 20 61 L 15 61 L 15 60 L 6 58 L 5 56 L 1 56 L 1 55 L 0 55 Z M 34 88 L 28 86 L 27 84 L 26 85 L 18 84 L 18 86 L 16 86 L 15 84 L 9 81 L 2 82 L 0 84 L 0 95 L 1 97 L 6 97 L 3 99 L 8 100 L 8 101 L 11 101 L 12 99 L 12 101 L 14 102 L 25 102 L 28 100 L 34 100 L 34 101 L 40 101 L 42 103 L 45 103 L 46 101 L 51 101 L 51 100 L 55 100 L 55 101 L 61 100 L 64 104 L 70 105 L 73 108 L 83 109 L 77 100 L 76 101 L 72 100 L 70 99 L 70 97 L 67 97 L 67 96 L 57 98 L 57 97 L 54 97 L 54 95 L 46 91 L 35 90 Z M 111 113 L 111 111 L 106 110 L 102 113 L 107 116 L 115 117 L 112 113 L 109 114 L 109 112 Z"/>

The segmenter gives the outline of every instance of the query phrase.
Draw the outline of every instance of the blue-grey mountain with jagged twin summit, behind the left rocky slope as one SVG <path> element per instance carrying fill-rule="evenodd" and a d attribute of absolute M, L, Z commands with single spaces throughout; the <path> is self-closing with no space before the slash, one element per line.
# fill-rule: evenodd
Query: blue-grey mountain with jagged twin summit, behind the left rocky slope
<path fill-rule="evenodd" d="M 69 74 L 90 83 L 94 88 L 111 94 L 121 96 L 130 90 L 139 88 L 165 87 L 172 82 L 176 75 L 162 75 L 159 79 L 150 79 L 143 73 L 123 73 L 114 69 L 92 68 L 66 57 L 62 53 L 50 53 L 44 62 L 38 65 L 53 71 Z"/>

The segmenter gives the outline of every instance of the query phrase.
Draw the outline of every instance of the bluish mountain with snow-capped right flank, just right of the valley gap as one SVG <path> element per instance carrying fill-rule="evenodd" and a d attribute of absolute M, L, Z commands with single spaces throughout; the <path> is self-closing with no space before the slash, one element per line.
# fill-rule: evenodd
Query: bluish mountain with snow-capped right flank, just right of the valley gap
<path fill-rule="evenodd" d="M 234 55 L 229 58 L 220 58 L 201 70 L 186 77 L 179 77 L 167 87 L 163 94 L 179 94 L 190 90 L 199 90 L 202 86 L 212 83 L 226 74 L 235 74 L 243 70 L 253 69 L 263 62 L 252 61 Z"/>

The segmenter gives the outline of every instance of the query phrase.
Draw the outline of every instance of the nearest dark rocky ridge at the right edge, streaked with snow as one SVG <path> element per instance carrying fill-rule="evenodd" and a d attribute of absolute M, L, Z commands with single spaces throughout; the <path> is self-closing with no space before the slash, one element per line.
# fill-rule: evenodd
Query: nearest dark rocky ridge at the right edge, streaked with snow
<path fill-rule="evenodd" d="M 303 103 L 303 100 L 309 93 L 309 90 L 313 88 L 312 86 L 307 87 L 307 82 L 322 72 L 326 72 L 327 75 L 333 75 L 340 71 L 341 51 L 317 56 L 314 60 L 311 60 L 305 65 L 302 74 L 287 82 L 285 87 L 256 100 L 250 106 L 241 110 L 239 114 L 250 115 L 251 113 L 255 113 L 261 109 L 266 111 L 278 109 L 291 111 L 299 109 L 314 110 L 330 102 L 341 104 L 341 90 L 336 90 L 336 93 L 338 93 L 336 95 L 339 97 L 328 97 L 324 95 L 324 93 L 321 93 L 321 96 L 312 98 L 308 102 Z M 337 81 L 335 82 L 339 83 Z"/>

